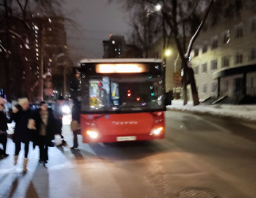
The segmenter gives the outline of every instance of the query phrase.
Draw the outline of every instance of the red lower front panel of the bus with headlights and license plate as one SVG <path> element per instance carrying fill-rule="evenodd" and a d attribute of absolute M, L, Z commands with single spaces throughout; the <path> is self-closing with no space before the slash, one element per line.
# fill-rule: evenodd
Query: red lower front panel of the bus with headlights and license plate
<path fill-rule="evenodd" d="M 80 115 L 84 143 L 165 138 L 164 112 Z"/>

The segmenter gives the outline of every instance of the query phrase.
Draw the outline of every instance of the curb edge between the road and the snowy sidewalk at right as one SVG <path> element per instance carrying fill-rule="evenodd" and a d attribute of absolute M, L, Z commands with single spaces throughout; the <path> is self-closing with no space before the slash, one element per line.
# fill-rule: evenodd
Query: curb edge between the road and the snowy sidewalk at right
<path fill-rule="evenodd" d="M 176 108 L 174 108 L 174 109 L 166 108 L 166 111 L 186 112 L 186 113 L 195 114 L 195 115 L 214 115 L 215 117 L 224 118 L 224 119 L 243 121 L 243 122 L 251 123 L 251 124 L 256 123 L 256 120 L 250 120 L 249 118 L 235 117 L 233 115 L 214 114 L 212 112 L 199 112 L 199 111 L 190 111 L 188 109 L 176 109 Z"/>

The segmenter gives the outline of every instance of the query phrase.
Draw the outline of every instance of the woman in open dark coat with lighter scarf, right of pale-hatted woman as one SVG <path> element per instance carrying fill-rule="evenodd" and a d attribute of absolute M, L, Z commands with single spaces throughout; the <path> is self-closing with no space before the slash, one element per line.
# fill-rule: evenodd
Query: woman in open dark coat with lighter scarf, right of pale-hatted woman
<path fill-rule="evenodd" d="M 39 162 L 48 163 L 48 146 L 53 146 L 55 134 L 55 119 L 52 109 L 48 108 L 45 101 L 40 103 L 40 109 L 35 111 L 36 132 L 33 137 L 34 145 L 39 146 Z"/>

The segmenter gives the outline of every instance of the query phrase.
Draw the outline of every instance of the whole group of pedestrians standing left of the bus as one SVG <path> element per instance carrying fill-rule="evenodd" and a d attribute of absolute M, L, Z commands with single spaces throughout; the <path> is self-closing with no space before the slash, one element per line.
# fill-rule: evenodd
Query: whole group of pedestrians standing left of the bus
<path fill-rule="evenodd" d="M 52 140 L 54 140 L 55 134 L 59 134 L 62 137 L 62 145 L 65 146 L 66 141 L 62 135 L 62 104 L 64 102 L 63 97 L 59 97 L 56 103 L 52 105 L 52 109 L 48 108 L 45 101 L 41 101 L 40 108 L 35 111 L 30 110 L 29 101 L 27 98 L 20 98 L 18 105 L 12 109 L 12 115 L 7 117 L 5 112 L 5 100 L 0 98 L 0 156 L 8 157 L 6 154 L 7 144 L 7 123 L 15 122 L 15 129 L 13 132 L 13 143 L 15 143 L 15 155 L 14 165 L 18 162 L 18 157 L 21 151 L 21 143 L 24 143 L 24 159 L 23 159 L 23 171 L 27 171 L 27 155 L 29 153 L 29 142 L 33 142 L 33 147 L 39 147 L 39 162 L 48 163 L 48 147 L 54 146 Z M 76 103 L 77 101 L 75 101 Z M 77 103 L 76 103 L 77 104 Z M 77 108 L 77 105 L 75 105 Z M 74 108 L 74 109 L 76 109 Z M 79 111 L 78 109 L 74 111 Z M 77 120 L 80 120 L 77 115 L 74 114 Z M 71 148 L 77 148 L 77 137 L 74 138 L 74 146 Z"/>

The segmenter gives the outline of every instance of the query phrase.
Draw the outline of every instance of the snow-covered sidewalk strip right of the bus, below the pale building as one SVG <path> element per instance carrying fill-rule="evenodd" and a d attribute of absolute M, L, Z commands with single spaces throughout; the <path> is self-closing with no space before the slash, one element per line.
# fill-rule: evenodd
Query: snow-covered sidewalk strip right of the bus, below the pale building
<path fill-rule="evenodd" d="M 190 111 L 201 114 L 220 115 L 224 117 L 242 118 L 247 121 L 256 121 L 256 104 L 230 105 L 230 104 L 199 104 L 193 106 L 193 101 L 183 106 L 183 100 L 172 100 L 172 104 L 166 106 L 167 110 Z"/>

